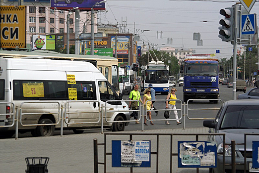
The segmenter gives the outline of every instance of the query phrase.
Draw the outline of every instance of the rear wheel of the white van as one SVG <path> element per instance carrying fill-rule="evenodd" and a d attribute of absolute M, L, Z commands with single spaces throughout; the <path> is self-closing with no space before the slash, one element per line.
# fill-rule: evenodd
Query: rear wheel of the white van
<path fill-rule="evenodd" d="M 42 119 L 38 124 L 53 124 L 50 119 Z M 36 131 L 38 136 L 53 136 L 54 134 L 54 126 L 37 126 Z"/>

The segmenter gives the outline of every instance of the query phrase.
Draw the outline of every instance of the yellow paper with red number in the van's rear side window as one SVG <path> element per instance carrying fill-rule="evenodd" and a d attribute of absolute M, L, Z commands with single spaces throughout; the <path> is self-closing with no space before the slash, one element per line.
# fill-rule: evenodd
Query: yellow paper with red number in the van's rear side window
<path fill-rule="evenodd" d="M 22 84 L 24 97 L 44 97 L 43 83 Z"/>

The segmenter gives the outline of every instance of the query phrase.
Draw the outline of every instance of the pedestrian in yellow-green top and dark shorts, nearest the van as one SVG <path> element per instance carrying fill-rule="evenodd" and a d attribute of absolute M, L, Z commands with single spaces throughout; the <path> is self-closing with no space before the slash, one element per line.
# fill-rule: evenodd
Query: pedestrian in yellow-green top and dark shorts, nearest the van
<path fill-rule="evenodd" d="M 142 99 L 140 97 L 140 92 L 138 91 L 138 85 L 135 85 L 134 89 L 132 91 L 130 91 L 129 99 L 130 100 L 139 100 L 143 104 Z M 138 110 L 138 106 L 139 106 L 138 101 L 129 101 L 129 108 L 131 108 L 132 110 Z M 138 117 L 137 112 L 132 112 L 132 114 L 130 114 L 130 118 L 131 117 L 134 117 L 134 119 L 137 120 L 137 117 Z M 135 124 L 140 124 L 140 123 L 138 121 L 136 121 Z"/>

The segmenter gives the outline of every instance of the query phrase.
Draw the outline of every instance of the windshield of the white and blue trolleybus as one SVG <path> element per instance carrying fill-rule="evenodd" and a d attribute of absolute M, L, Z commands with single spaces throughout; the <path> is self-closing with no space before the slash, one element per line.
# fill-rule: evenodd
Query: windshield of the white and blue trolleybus
<path fill-rule="evenodd" d="M 152 84 L 168 83 L 168 70 L 146 70 L 145 82 Z"/>

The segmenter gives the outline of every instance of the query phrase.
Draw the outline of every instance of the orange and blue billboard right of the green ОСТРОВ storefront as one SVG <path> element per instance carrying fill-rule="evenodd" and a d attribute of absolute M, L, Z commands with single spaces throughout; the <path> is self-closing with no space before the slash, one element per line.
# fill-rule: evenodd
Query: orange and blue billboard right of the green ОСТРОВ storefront
<path fill-rule="evenodd" d="M 111 47 L 115 54 L 116 36 L 111 36 Z M 129 36 L 117 36 L 117 54 L 129 54 Z"/>

